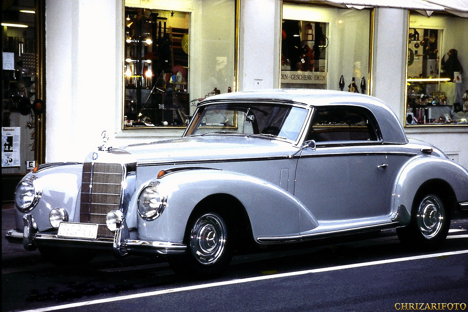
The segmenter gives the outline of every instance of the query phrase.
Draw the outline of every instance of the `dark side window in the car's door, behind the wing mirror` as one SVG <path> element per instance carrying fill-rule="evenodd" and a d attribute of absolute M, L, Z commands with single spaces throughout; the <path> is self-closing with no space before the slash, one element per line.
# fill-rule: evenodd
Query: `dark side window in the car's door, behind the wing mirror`
<path fill-rule="evenodd" d="M 370 111 L 360 107 L 316 108 L 307 140 L 377 141 L 373 119 Z"/>

